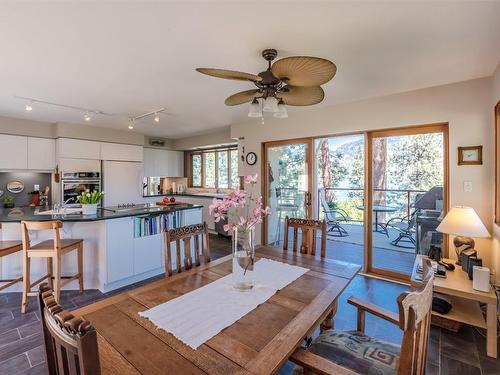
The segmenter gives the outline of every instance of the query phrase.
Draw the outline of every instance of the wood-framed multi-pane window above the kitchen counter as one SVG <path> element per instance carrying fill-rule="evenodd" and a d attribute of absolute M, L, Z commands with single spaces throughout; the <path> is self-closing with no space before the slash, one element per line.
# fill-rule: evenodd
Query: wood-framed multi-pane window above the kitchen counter
<path fill-rule="evenodd" d="M 236 148 L 191 153 L 191 186 L 238 188 L 238 150 Z"/>

